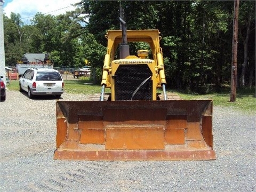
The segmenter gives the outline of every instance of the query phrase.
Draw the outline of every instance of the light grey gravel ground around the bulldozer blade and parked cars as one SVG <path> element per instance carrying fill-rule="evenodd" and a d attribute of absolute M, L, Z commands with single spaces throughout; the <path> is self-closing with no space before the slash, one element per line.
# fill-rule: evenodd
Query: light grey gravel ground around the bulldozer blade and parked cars
<path fill-rule="evenodd" d="M 55 101 L 7 91 L 0 102 L 0 191 L 256 190 L 255 115 L 214 107 L 215 161 L 56 161 Z"/>

